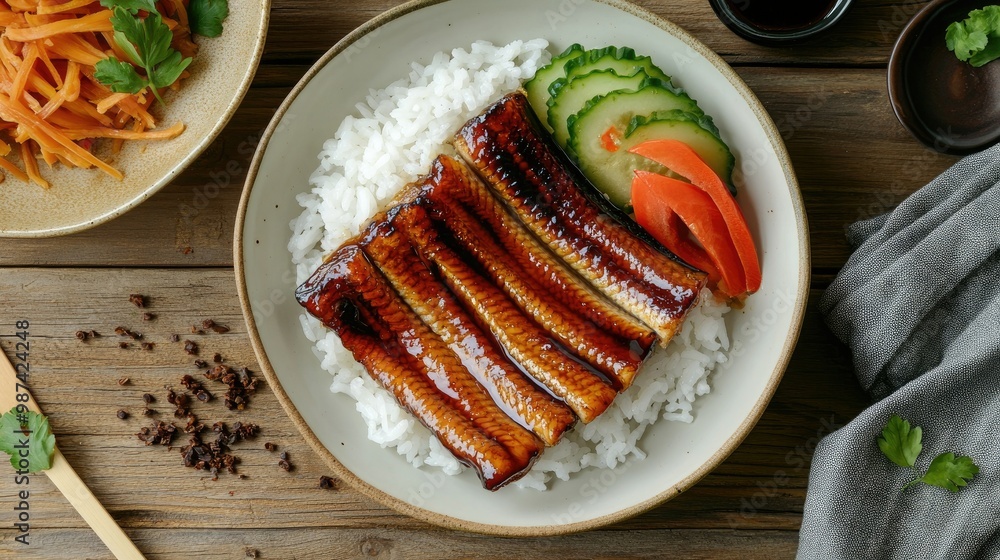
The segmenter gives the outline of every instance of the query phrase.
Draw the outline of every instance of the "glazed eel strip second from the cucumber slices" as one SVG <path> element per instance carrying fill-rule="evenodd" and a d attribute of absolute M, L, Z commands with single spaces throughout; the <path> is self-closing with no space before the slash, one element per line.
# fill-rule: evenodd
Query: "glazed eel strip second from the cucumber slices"
<path fill-rule="evenodd" d="M 522 311 L 612 379 L 619 391 L 632 384 L 655 333 L 626 318 L 560 265 L 466 165 L 439 157 L 420 197 L 483 274 Z"/>

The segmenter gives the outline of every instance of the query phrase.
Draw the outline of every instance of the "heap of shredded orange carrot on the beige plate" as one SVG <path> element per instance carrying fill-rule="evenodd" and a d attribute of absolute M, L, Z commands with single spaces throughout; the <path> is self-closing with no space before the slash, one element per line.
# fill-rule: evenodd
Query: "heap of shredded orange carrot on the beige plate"
<path fill-rule="evenodd" d="M 187 4 L 159 0 L 156 8 L 173 34 L 171 47 L 192 57 L 198 47 Z M 114 41 L 111 16 L 99 0 L 0 0 L 0 180 L 7 173 L 49 188 L 39 158 L 49 167 L 97 168 L 122 179 L 92 152 L 96 139 L 110 139 L 118 153 L 125 140 L 165 140 L 184 131 L 183 123 L 153 130 L 149 88 L 114 93 L 94 78 L 101 60 L 128 59 Z M 169 87 L 177 89 L 180 81 Z M 8 159 L 11 154 L 23 169 Z"/>

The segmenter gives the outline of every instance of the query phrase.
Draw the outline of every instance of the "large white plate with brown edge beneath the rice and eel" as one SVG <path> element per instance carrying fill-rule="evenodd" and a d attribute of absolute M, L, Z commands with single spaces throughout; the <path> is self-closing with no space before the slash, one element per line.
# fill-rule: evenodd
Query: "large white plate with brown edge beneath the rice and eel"
<path fill-rule="evenodd" d="M 713 376 L 693 424 L 660 422 L 641 440 L 649 454 L 618 472 L 587 471 L 548 492 L 483 490 L 472 472 L 430 474 L 368 441 L 348 397 L 328 390 L 299 326 L 286 250 L 316 154 L 369 88 L 406 75 L 411 61 L 468 47 L 543 37 L 627 45 L 648 54 L 715 117 L 745 176 L 739 202 L 755 233 L 760 292 L 730 316 L 736 350 Z M 743 440 L 778 385 L 798 337 L 809 286 L 805 212 L 788 155 L 761 104 L 718 56 L 680 28 L 609 0 L 448 0 L 400 6 L 348 35 L 303 78 L 258 148 L 237 218 L 237 284 L 261 367 L 282 404 L 336 473 L 415 517 L 502 535 L 580 531 L 641 513 L 690 487 Z"/>

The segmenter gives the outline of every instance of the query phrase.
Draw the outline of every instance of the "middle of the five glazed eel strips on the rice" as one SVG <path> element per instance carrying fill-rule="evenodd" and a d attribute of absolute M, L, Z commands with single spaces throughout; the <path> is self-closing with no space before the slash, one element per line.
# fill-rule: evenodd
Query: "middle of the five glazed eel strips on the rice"
<path fill-rule="evenodd" d="M 421 200 L 400 205 L 394 220 L 421 259 L 432 266 L 462 305 L 519 366 L 565 402 L 583 422 L 607 410 L 618 394 L 598 372 L 571 357 L 507 294 L 476 271 L 430 217 Z"/>

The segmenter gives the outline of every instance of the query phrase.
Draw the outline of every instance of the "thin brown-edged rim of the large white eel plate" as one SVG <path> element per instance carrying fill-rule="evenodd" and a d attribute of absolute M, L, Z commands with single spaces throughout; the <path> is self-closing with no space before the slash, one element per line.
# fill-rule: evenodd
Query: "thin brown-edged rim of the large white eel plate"
<path fill-rule="evenodd" d="M 802 320 L 805 316 L 806 303 L 809 298 L 809 282 L 811 277 L 811 258 L 808 236 L 809 225 L 805 213 L 805 206 L 802 201 L 802 193 L 799 190 L 798 180 L 792 170 L 788 150 L 785 147 L 784 141 L 781 139 L 781 135 L 778 133 L 777 127 L 771 120 L 767 111 L 764 109 L 764 106 L 757 99 L 756 95 L 754 95 L 750 90 L 750 87 L 746 85 L 742 78 L 740 78 L 739 75 L 737 75 L 736 72 L 719 55 L 694 38 L 693 35 L 669 20 L 625 0 L 594 0 L 646 20 L 647 22 L 652 23 L 663 31 L 684 42 L 697 53 L 704 56 L 705 59 L 708 60 L 708 62 L 711 63 L 712 66 L 714 66 L 715 69 L 722 74 L 730 84 L 732 84 L 743 100 L 750 106 L 751 111 L 753 111 L 757 120 L 764 128 L 765 135 L 774 146 L 775 155 L 777 156 L 778 161 L 781 164 L 782 171 L 784 172 L 799 236 L 799 262 L 804 265 L 801 268 L 798 278 L 799 296 L 793 308 L 792 329 L 789 331 L 788 337 L 785 339 L 785 344 L 781 349 L 781 354 L 775 368 L 770 373 L 767 386 L 757 399 L 757 402 L 754 403 L 750 414 L 743 420 L 733 435 L 726 440 L 722 447 L 720 447 L 719 450 L 716 451 L 701 467 L 696 469 L 679 483 L 666 488 L 662 492 L 659 492 L 640 503 L 633 504 L 632 506 L 623 508 L 615 513 L 603 515 L 586 521 L 569 523 L 566 525 L 539 525 L 533 527 L 495 525 L 466 521 L 464 519 L 458 519 L 449 515 L 425 510 L 390 496 L 379 488 L 365 482 L 355 475 L 350 469 L 341 464 L 333 453 L 331 453 L 330 450 L 319 441 L 319 438 L 317 438 L 316 434 L 313 433 L 312 428 L 310 428 L 306 421 L 302 418 L 297 408 L 282 388 L 281 382 L 278 380 L 278 376 L 275 373 L 274 368 L 271 366 L 267 353 L 264 351 L 264 344 L 260 339 L 259 333 L 257 332 L 257 324 L 253 318 L 253 312 L 250 307 L 246 279 L 244 276 L 243 230 L 246 220 L 247 206 L 250 201 L 250 195 L 253 192 L 254 183 L 257 179 L 257 172 L 260 169 L 264 152 L 267 150 L 271 136 L 277 128 L 278 123 L 282 120 L 285 112 L 298 97 L 299 93 L 301 93 L 309 82 L 312 81 L 312 78 L 331 60 L 333 60 L 334 57 L 348 49 L 356 41 L 371 33 L 375 29 L 403 17 L 410 12 L 414 12 L 427 6 L 433 6 L 450 1 L 453 0 L 411 0 L 410 2 L 401 4 L 383 12 L 382 14 L 362 24 L 360 27 L 338 41 L 329 51 L 316 61 L 316 63 L 309 69 L 308 72 L 306 72 L 302 79 L 299 80 L 292 91 L 288 94 L 281 106 L 278 108 L 277 112 L 275 112 L 271 122 L 267 126 L 267 129 L 264 131 L 264 135 L 261 137 L 260 143 L 257 146 L 257 151 L 254 153 L 253 161 L 250 164 L 246 183 L 243 187 L 243 194 L 240 197 L 240 206 L 236 214 L 236 230 L 233 236 L 233 264 L 236 272 L 236 288 L 240 298 L 240 306 L 243 310 L 243 318 L 247 323 L 247 333 L 250 335 L 250 341 L 253 345 L 254 353 L 257 355 L 257 361 L 264 372 L 264 376 L 267 379 L 271 390 L 274 391 L 278 401 L 281 403 L 282 408 L 285 409 L 285 413 L 288 414 L 289 418 L 291 418 L 292 422 L 299 429 L 299 432 L 302 433 L 310 447 L 313 448 L 313 451 L 326 461 L 327 465 L 329 465 L 334 473 L 367 497 L 389 506 L 396 511 L 435 525 L 451 529 L 471 531 L 474 533 L 506 537 L 556 536 L 589 531 L 606 525 L 611 525 L 613 523 L 618 523 L 645 513 L 680 495 L 699 480 L 704 478 L 705 475 L 715 470 L 720 464 L 722 464 L 723 461 L 726 460 L 727 457 L 729 457 L 730 454 L 732 454 L 733 451 L 736 450 L 737 447 L 739 447 L 753 427 L 757 424 L 757 421 L 760 420 L 765 408 L 767 408 L 767 404 L 774 396 L 774 392 L 777 390 L 781 378 L 784 376 L 785 369 L 788 367 L 788 362 L 791 359 L 792 352 L 795 349 L 796 342 L 798 341 L 799 334 L 802 330 Z"/>

